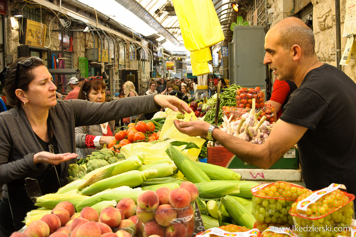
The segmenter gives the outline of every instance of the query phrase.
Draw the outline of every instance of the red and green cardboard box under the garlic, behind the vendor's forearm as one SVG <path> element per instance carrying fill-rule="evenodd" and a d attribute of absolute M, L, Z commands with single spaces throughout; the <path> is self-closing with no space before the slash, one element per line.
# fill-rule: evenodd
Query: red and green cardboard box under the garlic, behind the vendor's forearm
<path fill-rule="evenodd" d="M 223 146 L 208 147 L 208 163 L 230 169 L 259 169 L 242 161 Z M 298 149 L 291 148 L 269 169 L 298 169 Z"/>

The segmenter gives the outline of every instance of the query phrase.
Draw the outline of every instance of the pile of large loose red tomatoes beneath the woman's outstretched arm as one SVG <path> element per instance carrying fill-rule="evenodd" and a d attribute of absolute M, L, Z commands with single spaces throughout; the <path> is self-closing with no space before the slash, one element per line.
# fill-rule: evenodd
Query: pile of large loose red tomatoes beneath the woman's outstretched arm
<path fill-rule="evenodd" d="M 157 133 L 155 131 L 155 124 L 152 122 L 143 122 L 139 121 L 135 123 L 129 123 L 127 125 L 127 129 L 121 130 L 115 134 L 115 139 L 112 139 L 108 148 L 110 150 L 114 150 L 116 152 L 120 152 L 120 148 L 130 143 L 136 142 L 152 142 L 158 140 L 159 134 L 161 131 Z"/>

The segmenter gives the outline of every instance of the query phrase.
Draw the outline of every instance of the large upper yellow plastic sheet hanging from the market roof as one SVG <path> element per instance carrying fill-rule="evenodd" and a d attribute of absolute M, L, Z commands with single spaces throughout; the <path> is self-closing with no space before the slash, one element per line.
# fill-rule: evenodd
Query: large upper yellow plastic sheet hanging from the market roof
<path fill-rule="evenodd" d="M 187 50 L 200 50 L 224 40 L 211 0 L 173 0 L 173 6 Z"/>

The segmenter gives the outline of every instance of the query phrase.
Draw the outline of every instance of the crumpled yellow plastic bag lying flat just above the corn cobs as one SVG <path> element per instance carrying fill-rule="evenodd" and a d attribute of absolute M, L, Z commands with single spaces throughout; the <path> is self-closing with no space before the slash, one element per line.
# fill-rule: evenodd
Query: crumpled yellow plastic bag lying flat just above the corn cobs
<path fill-rule="evenodd" d="M 150 142 L 140 142 L 140 143 L 130 143 L 125 146 L 122 146 L 120 153 L 125 157 L 129 157 L 133 154 L 136 154 L 139 151 L 142 151 L 145 154 L 144 164 L 149 164 L 153 161 L 161 160 L 161 159 L 170 159 L 166 153 L 166 149 L 169 146 L 169 143 L 172 141 L 185 141 L 185 142 L 193 142 L 195 145 L 199 147 L 185 149 L 182 151 L 184 155 L 186 155 L 190 160 L 195 161 L 198 158 L 198 155 L 201 150 L 201 146 L 203 146 L 205 140 L 197 137 L 188 136 L 187 138 L 174 138 L 166 141 L 158 142 L 156 144 L 152 144 Z M 175 146 L 178 150 L 182 150 L 186 145 Z"/>

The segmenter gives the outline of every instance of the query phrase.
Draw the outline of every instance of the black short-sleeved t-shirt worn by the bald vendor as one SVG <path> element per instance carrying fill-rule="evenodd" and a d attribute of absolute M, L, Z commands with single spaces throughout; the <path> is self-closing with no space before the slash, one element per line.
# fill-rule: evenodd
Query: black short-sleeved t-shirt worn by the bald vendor
<path fill-rule="evenodd" d="M 297 143 L 308 189 L 337 183 L 356 195 L 355 96 L 356 83 L 324 64 L 307 73 L 284 107 L 280 119 L 308 128 Z"/>

